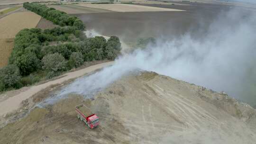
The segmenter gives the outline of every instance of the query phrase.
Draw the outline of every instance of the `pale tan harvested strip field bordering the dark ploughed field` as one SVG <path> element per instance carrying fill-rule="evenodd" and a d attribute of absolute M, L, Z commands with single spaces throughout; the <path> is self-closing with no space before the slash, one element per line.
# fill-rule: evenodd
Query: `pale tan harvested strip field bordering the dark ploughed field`
<path fill-rule="evenodd" d="M 117 12 L 140 12 L 140 11 L 183 11 L 179 9 L 166 9 L 150 6 L 140 6 L 131 4 L 80 4 L 80 6 L 96 9 L 107 9 Z"/>

